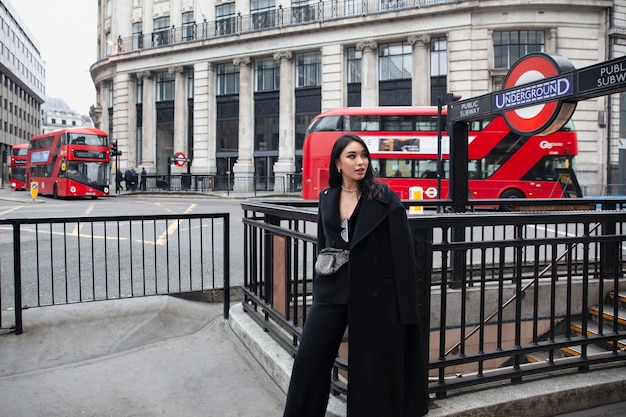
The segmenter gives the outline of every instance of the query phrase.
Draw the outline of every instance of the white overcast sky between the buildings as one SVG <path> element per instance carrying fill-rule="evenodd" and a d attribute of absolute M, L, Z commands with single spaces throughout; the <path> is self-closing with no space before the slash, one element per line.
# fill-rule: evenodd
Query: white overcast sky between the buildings
<path fill-rule="evenodd" d="M 39 44 L 46 95 L 89 114 L 96 90 L 89 67 L 97 57 L 97 0 L 9 0 Z"/>

